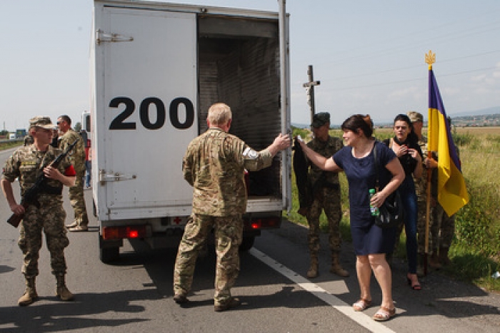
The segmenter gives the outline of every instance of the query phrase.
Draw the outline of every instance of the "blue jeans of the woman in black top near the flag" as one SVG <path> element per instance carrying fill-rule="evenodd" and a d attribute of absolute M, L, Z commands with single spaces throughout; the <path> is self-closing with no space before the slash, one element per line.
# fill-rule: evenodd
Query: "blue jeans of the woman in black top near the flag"
<path fill-rule="evenodd" d="M 406 233 L 406 257 L 408 259 L 408 271 L 411 274 L 416 274 L 416 221 L 419 211 L 416 201 L 415 184 L 411 175 L 406 175 L 403 183 L 399 185 L 398 190 L 401 195 L 404 208 L 404 232 Z"/>

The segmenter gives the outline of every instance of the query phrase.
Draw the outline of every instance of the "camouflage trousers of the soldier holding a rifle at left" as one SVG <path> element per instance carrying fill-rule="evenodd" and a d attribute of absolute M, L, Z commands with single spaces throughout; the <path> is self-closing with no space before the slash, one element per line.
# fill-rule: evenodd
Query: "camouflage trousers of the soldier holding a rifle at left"
<path fill-rule="evenodd" d="M 26 278 L 39 275 L 38 259 L 41 249 L 41 232 L 45 233 L 46 245 L 51 255 L 52 274 L 66 274 L 64 248 L 69 245 L 64 220 L 66 212 L 62 202 L 53 205 L 41 203 L 40 208 L 30 205 L 21 222 L 19 248 L 23 252 L 21 272 Z"/>

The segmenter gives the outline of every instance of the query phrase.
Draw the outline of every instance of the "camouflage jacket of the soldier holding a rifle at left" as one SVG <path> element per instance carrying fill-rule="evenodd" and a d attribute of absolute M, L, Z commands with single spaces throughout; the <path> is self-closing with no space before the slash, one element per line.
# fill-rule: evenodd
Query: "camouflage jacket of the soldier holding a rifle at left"
<path fill-rule="evenodd" d="M 46 152 L 36 150 L 34 145 L 27 145 L 14 151 L 14 154 L 6 160 L 4 167 L 3 178 L 14 182 L 19 177 L 19 184 L 21 185 L 21 196 L 24 196 L 26 190 L 31 188 L 36 182 L 36 178 L 43 173 L 43 169 L 56 159 L 57 155 L 61 153 L 58 148 L 53 148 L 49 145 Z M 64 174 L 66 168 L 71 166 L 69 158 L 64 158 L 59 164 L 58 170 Z M 48 179 L 47 185 L 51 188 L 62 189 L 62 184 L 59 180 Z M 61 200 L 62 195 L 54 195 L 47 193 L 40 193 L 40 201 Z"/>

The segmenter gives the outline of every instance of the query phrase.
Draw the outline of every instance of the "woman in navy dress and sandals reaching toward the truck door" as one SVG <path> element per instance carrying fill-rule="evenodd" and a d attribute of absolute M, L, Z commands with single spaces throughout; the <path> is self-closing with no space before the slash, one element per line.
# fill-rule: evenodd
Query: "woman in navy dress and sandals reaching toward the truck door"
<path fill-rule="evenodd" d="M 370 279 L 373 271 L 382 291 L 381 307 L 373 319 L 385 321 L 396 314 L 391 292 L 391 268 L 385 259 L 385 254 L 394 247 L 396 229 L 377 227 L 371 216 L 370 203 L 380 207 L 403 181 L 404 170 L 394 152 L 371 137 L 373 124 L 370 116 L 351 116 L 342 123 L 341 128 L 346 145 L 332 158 L 314 153 L 304 142 L 301 142 L 301 148 L 307 158 L 319 168 L 346 173 L 349 182 L 351 233 L 361 292 L 361 298 L 353 304 L 353 309 L 363 311 L 371 305 Z M 374 148 L 377 150 L 381 190 L 370 199 L 369 189 L 375 188 L 376 181 Z"/>

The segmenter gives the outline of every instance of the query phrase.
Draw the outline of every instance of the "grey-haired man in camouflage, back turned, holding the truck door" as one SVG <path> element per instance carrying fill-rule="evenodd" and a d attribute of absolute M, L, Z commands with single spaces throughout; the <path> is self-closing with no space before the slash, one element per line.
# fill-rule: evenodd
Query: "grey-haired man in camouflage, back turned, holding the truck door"
<path fill-rule="evenodd" d="M 244 170 L 269 167 L 276 153 L 290 146 L 289 135 L 279 135 L 268 148 L 256 152 L 228 133 L 231 109 L 224 103 L 209 108 L 209 129 L 189 143 L 183 161 L 184 179 L 193 186 L 193 210 L 184 230 L 174 268 L 174 301 L 189 302 L 194 265 L 210 230 L 215 230 L 215 311 L 240 304 L 231 297 L 239 274 L 239 245 L 246 210 Z"/>

